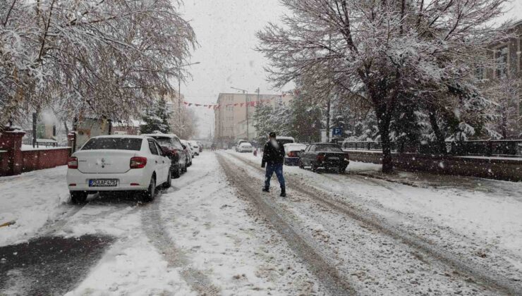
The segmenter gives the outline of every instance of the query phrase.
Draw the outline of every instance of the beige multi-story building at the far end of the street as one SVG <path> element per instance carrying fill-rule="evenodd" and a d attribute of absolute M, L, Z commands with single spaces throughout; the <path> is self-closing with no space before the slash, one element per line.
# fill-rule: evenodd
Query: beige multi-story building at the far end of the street
<path fill-rule="evenodd" d="M 214 139 L 224 146 L 230 146 L 237 140 L 252 140 L 257 135 L 253 122 L 257 104 L 262 101 L 275 107 L 289 104 L 292 99 L 289 94 L 219 94 L 219 108 L 214 109 Z"/>

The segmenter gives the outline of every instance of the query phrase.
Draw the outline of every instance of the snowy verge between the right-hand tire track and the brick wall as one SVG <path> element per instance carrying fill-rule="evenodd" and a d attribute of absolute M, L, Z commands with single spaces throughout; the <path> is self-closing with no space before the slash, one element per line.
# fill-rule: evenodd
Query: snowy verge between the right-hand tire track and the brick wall
<path fill-rule="evenodd" d="M 236 155 L 261 162 L 261 154 Z M 378 175 L 379 170 L 380 165 L 358 161 L 351 161 L 346 175 L 284 167 L 285 173 L 315 187 L 329 188 L 344 199 L 362 202 L 397 222 L 408 223 L 410 217 L 415 217 L 412 221 L 430 221 L 485 242 L 484 249 L 505 249 L 513 254 L 505 259 L 522 271 L 522 183 L 406 172 L 389 178 L 396 182 L 407 180 L 417 186 L 413 187 L 357 175 Z"/>

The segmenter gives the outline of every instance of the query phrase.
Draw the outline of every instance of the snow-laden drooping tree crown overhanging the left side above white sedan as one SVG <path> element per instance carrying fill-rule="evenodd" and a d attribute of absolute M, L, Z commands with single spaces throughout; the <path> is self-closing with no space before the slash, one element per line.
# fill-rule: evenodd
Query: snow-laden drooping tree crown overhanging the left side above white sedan
<path fill-rule="evenodd" d="M 169 0 L 0 1 L 0 123 L 20 111 L 138 116 L 195 45 Z M 0 126 L 3 126 L 1 124 Z"/>

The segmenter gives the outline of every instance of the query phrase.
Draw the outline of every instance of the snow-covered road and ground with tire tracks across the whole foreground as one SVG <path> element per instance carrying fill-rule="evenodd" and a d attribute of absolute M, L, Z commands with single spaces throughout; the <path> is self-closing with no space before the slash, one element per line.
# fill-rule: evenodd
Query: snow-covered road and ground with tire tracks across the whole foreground
<path fill-rule="evenodd" d="M 259 166 L 252 154 L 204 152 L 150 204 L 93 196 L 69 205 L 65 167 L 0 178 L 0 223 L 16 221 L 0 228 L 0 295 L 522 290 L 522 199 L 512 194 L 522 184 L 411 187 L 356 174 L 375 169 L 368 164 L 346 175 L 285 166 L 283 199 L 275 179 L 272 192 L 260 191 Z M 47 257 L 25 258 L 49 244 L 60 260 L 48 269 L 75 266 L 66 280 L 39 282 L 35 265 Z"/>

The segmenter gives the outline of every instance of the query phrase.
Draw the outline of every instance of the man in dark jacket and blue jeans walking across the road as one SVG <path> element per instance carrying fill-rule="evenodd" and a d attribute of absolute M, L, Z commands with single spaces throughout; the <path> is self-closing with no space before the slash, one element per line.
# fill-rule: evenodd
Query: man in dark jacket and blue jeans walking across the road
<path fill-rule="evenodd" d="M 263 187 L 264 192 L 269 192 L 270 179 L 272 178 L 272 174 L 276 173 L 277 180 L 279 180 L 279 185 L 281 186 L 281 197 L 286 197 L 286 190 L 284 187 L 283 177 L 283 162 L 283 144 L 276 140 L 275 132 L 270 132 L 268 142 L 267 144 L 265 144 L 265 147 L 263 148 L 263 159 L 261 161 L 262 168 L 265 168 L 265 165 L 267 165 L 267 170 L 265 174 L 265 187 Z"/>

